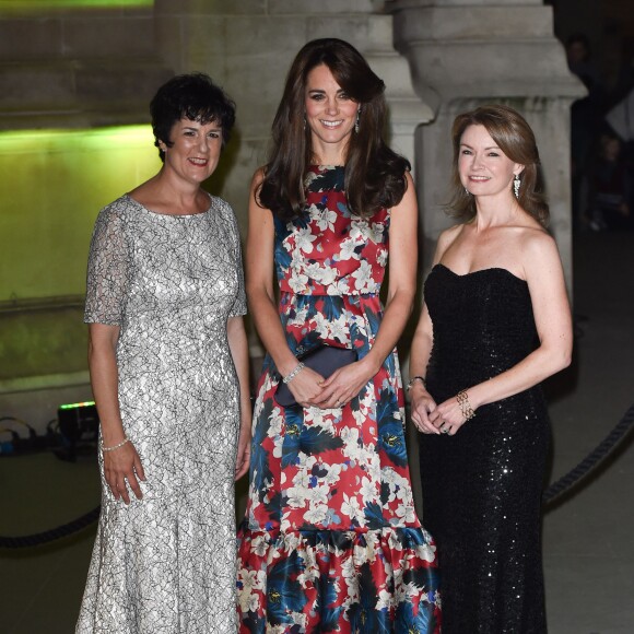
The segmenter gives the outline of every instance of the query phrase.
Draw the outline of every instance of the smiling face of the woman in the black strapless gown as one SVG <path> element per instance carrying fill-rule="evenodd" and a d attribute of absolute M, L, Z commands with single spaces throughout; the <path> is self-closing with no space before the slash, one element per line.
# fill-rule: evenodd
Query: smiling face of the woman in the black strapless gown
<path fill-rule="evenodd" d="M 469 126 L 460 139 L 458 173 L 473 196 L 512 192 L 512 183 L 523 166 L 502 152 L 484 126 Z"/>

